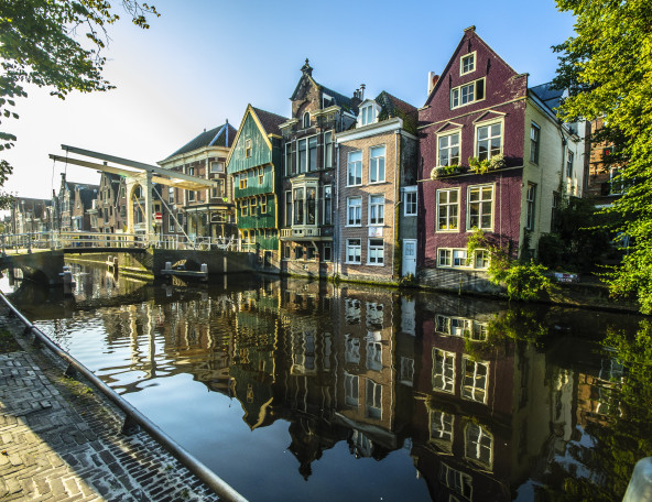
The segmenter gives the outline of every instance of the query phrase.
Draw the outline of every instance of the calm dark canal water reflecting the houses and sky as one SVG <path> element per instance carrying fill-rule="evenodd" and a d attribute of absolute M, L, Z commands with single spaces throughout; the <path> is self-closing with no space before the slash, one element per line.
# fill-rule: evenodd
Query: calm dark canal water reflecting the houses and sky
<path fill-rule="evenodd" d="M 652 455 L 638 316 L 73 268 L 73 297 L 2 286 L 251 501 L 620 500 Z"/>

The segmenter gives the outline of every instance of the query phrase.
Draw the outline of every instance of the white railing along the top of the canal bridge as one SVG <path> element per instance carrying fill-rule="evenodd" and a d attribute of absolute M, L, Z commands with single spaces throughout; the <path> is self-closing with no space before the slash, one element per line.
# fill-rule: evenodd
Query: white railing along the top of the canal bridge
<path fill-rule="evenodd" d="M 39 249 L 75 248 L 160 248 L 173 250 L 251 251 L 252 244 L 242 244 L 239 239 L 186 237 L 178 234 L 100 233 L 100 232 L 31 232 L 0 234 L 2 253 L 24 253 Z M 256 245 L 253 244 L 253 250 Z"/>

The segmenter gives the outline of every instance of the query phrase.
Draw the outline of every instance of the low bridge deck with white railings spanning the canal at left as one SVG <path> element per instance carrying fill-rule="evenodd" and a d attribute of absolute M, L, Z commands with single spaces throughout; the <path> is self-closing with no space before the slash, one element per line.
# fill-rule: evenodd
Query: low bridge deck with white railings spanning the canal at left
<path fill-rule="evenodd" d="M 119 269 L 134 274 L 161 275 L 166 262 L 186 260 L 209 273 L 256 269 L 256 243 L 233 238 L 189 238 L 177 234 L 33 232 L 0 236 L 0 270 L 21 269 L 30 280 L 61 284 L 65 255 L 111 254 Z"/>

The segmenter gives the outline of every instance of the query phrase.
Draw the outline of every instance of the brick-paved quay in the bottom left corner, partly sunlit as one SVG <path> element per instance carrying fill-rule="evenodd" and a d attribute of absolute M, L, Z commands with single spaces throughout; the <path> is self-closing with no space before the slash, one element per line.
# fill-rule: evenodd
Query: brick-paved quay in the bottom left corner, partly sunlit
<path fill-rule="evenodd" d="M 0 329 L 22 325 L 0 308 Z M 0 353 L 0 501 L 218 500 L 148 434 L 121 435 L 110 403 L 20 342 Z"/>

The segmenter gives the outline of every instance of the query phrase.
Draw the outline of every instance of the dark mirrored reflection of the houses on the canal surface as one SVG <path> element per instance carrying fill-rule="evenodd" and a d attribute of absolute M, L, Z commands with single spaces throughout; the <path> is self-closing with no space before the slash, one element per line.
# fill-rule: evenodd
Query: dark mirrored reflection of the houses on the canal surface
<path fill-rule="evenodd" d="M 617 361 L 566 337 L 503 337 L 533 327 L 509 325 L 500 304 L 278 277 L 199 291 L 93 281 L 120 299 L 104 314 L 109 346 L 130 351 L 107 380 L 129 393 L 192 374 L 238 400 L 251 430 L 281 421 L 305 479 L 338 446 L 350 462 L 410 462 L 403 448 L 435 500 L 512 500 L 590 471 L 582 439 L 621 413 Z M 93 306 L 100 292 L 79 282 L 76 301 Z M 121 386 L 128 372 L 139 379 Z"/>

